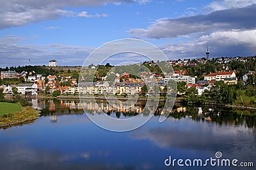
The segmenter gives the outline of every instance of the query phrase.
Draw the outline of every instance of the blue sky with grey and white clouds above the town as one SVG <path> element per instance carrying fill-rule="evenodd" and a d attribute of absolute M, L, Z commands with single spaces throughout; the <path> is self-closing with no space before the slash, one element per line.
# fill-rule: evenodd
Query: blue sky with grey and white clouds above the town
<path fill-rule="evenodd" d="M 255 56 L 255 15 L 256 0 L 1 0 L 0 67 L 83 65 L 120 38 L 150 42 L 168 59 L 205 57 L 207 44 L 210 58 Z"/>

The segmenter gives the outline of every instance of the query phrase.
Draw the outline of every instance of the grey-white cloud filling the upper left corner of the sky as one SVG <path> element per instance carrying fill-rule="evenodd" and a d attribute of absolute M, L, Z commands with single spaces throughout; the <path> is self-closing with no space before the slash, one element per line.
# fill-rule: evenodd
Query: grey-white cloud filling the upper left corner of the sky
<path fill-rule="evenodd" d="M 120 3 L 145 4 L 148 0 L 8 0 L 0 1 L 0 29 L 13 26 L 23 26 L 28 23 L 42 22 L 44 20 L 54 20 L 60 17 L 75 17 L 77 12 L 63 10 L 64 8 L 74 8 L 77 6 L 99 6 L 104 4 Z M 89 17 L 106 17 L 105 13 L 88 15 Z"/>

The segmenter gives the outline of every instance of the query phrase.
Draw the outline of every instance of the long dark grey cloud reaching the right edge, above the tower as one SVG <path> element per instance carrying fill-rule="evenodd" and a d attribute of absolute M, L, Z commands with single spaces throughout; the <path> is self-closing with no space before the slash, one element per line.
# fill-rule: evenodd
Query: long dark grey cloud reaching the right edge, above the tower
<path fill-rule="evenodd" d="M 220 10 L 206 15 L 180 17 L 178 19 L 158 19 L 147 28 L 128 31 L 133 37 L 177 38 L 192 33 L 209 33 L 232 29 L 254 29 L 256 4 L 246 8 Z"/>

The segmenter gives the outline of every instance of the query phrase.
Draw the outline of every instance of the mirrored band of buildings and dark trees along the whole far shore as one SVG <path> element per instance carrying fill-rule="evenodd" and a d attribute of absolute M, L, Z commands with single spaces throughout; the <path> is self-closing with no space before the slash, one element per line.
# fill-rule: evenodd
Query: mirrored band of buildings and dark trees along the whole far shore
<path fill-rule="evenodd" d="M 154 116 L 160 116 L 164 102 L 159 102 L 155 107 L 145 107 L 147 102 L 136 102 L 134 105 L 110 103 L 107 100 L 93 100 L 79 101 L 79 100 L 47 100 L 42 109 L 42 115 L 58 115 L 58 114 L 83 114 L 82 105 L 86 106 L 85 111 L 90 114 L 108 114 L 115 118 L 136 116 L 140 113 L 143 116 L 149 116 L 150 111 L 155 111 Z M 52 106 L 54 105 L 54 107 Z M 119 107 L 119 108 L 118 108 Z M 256 127 L 256 111 L 237 110 L 232 108 L 221 107 L 197 107 L 197 106 L 182 106 L 174 105 L 170 111 L 169 118 L 182 119 L 191 118 L 194 121 L 209 121 L 217 123 L 218 125 L 244 125 L 248 128 Z"/>

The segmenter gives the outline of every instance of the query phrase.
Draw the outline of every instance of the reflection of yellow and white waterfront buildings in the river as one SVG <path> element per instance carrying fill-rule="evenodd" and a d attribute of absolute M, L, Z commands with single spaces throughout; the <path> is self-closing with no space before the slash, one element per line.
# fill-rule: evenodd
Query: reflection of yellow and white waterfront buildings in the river
<path fill-rule="evenodd" d="M 102 112 L 121 112 L 121 113 L 134 113 L 140 114 L 143 109 L 148 111 L 156 111 L 161 114 L 162 107 L 158 107 L 156 104 L 146 105 L 147 102 L 106 102 L 106 100 L 38 100 L 32 99 L 33 107 L 40 111 L 49 111 L 49 114 L 72 114 L 72 111 L 79 111 L 79 114 L 83 114 L 83 108 L 90 113 L 102 113 Z M 145 107 L 147 106 L 147 107 Z M 186 112 L 186 107 L 178 107 L 176 109 L 168 109 L 168 112 Z M 77 112 L 74 112 L 77 114 Z"/>

